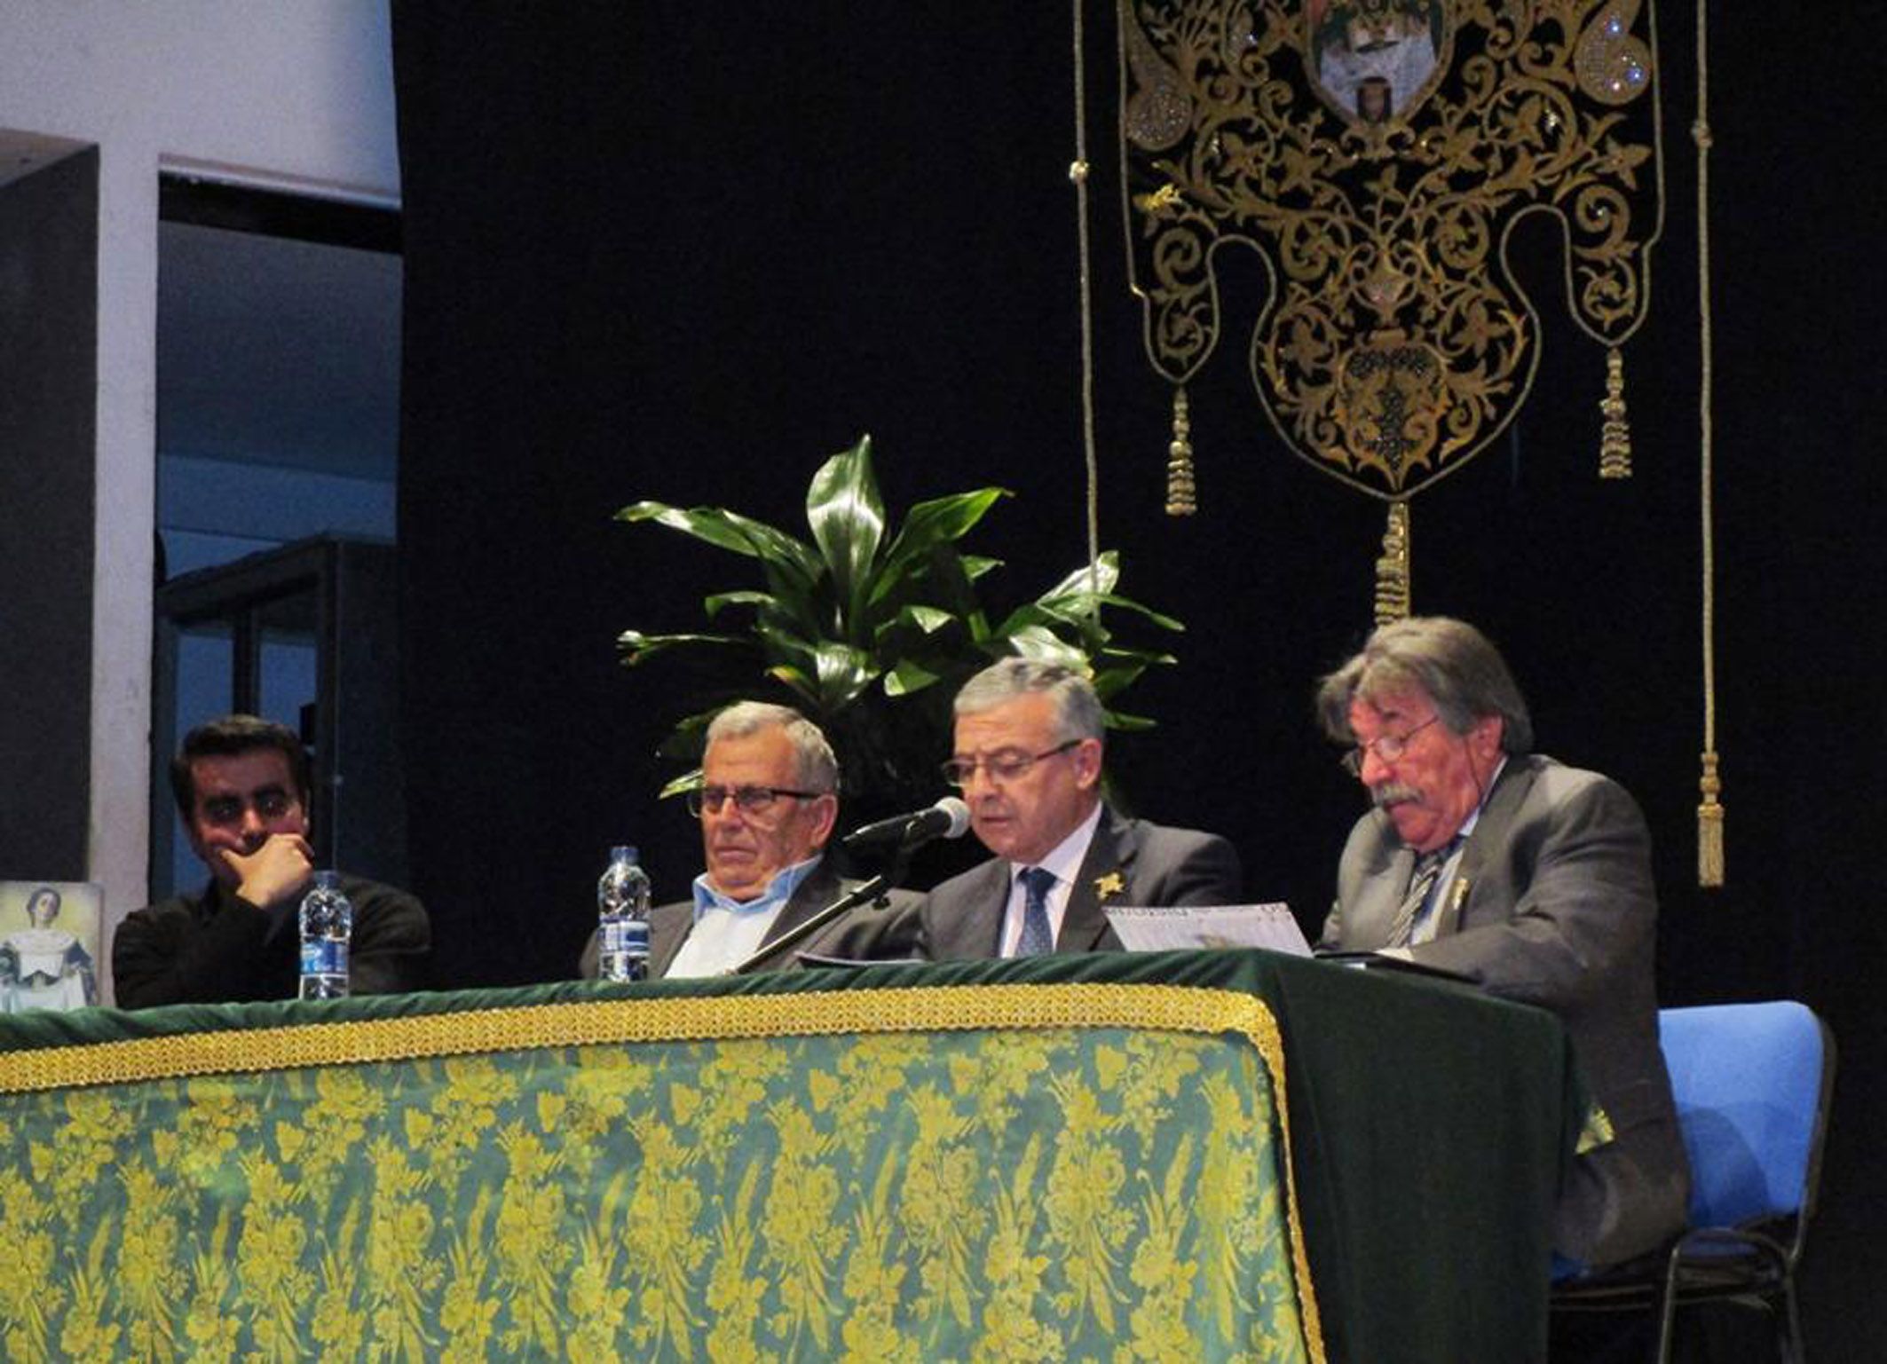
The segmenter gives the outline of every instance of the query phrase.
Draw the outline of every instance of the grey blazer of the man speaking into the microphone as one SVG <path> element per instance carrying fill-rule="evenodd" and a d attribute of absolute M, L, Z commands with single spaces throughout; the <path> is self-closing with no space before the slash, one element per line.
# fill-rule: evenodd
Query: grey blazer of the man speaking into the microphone
<path fill-rule="evenodd" d="M 919 953 L 930 960 L 996 956 L 1010 898 L 1010 862 L 996 857 L 938 885 L 917 911 Z M 1217 834 L 1164 828 L 1100 811 L 1062 917 L 1057 953 L 1119 951 L 1102 900 L 1123 906 L 1238 904 L 1238 851 Z"/>

